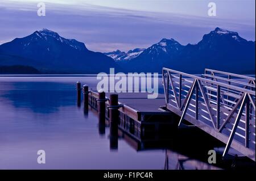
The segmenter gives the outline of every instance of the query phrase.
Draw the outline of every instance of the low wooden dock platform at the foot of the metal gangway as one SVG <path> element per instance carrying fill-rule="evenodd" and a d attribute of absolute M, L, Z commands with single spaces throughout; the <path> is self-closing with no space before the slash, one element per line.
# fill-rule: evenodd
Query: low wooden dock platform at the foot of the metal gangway
<path fill-rule="evenodd" d="M 170 111 L 159 110 L 164 105 L 164 98 L 147 99 L 147 95 L 119 94 L 119 129 L 129 132 L 130 136 L 143 138 L 148 133 L 166 131 L 167 128 L 177 128 L 179 117 Z M 98 92 L 89 92 L 89 105 L 98 110 Z M 109 119 L 109 93 L 106 93 L 105 118 Z"/>

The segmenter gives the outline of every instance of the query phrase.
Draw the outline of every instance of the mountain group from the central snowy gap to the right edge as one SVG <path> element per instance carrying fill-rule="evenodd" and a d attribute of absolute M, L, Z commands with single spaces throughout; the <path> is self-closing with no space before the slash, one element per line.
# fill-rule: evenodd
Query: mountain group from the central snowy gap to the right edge
<path fill-rule="evenodd" d="M 160 73 L 165 66 L 187 73 L 203 73 L 205 68 L 255 73 L 255 41 L 247 41 L 237 32 L 221 28 L 204 35 L 199 43 L 193 45 L 184 46 L 174 39 L 162 39 L 129 61 L 120 61 L 125 60 L 122 57 L 127 53 L 117 50 L 105 54 L 127 71 Z"/>

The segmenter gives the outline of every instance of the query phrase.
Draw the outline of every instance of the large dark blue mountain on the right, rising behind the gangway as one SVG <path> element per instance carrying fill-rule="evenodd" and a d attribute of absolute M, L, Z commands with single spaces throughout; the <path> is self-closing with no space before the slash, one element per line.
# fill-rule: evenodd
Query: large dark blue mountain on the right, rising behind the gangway
<path fill-rule="evenodd" d="M 179 65 L 178 62 L 183 64 Z M 185 46 L 170 66 L 180 70 L 188 69 L 191 73 L 204 68 L 253 73 L 255 72 L 255 43 L 243 39 L 237 32 L 217 27 L 204 35 L 199 43 Z"/>

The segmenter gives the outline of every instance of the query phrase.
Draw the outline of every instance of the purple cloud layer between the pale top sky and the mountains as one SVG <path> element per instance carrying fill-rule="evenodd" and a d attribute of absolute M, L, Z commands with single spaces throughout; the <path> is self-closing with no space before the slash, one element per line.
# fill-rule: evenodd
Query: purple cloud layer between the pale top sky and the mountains
<path fill-rule="evenodd" d="M 237 31 L 255 40 L 255 24 L 212 17 L 188 16 L 164 12 L 115 9 L 83 3 L 60 5 L 46 3 L 46 16 L 36 15 L 35 2 L 0 5 L 0 42 L 23 37 L 48 28 L 66 38 L 75 38 L 91 50 L 129 50 L 146 48 L 163 37 L 181 44 L 197 43 L 215 27 Z"/>

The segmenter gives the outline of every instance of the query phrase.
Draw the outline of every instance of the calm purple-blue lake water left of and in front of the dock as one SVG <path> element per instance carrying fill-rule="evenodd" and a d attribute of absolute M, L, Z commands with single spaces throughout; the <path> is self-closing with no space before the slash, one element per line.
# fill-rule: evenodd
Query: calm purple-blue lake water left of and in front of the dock
<path fill-rule="evenodd" d="M 77 80 L 96 90 L 96 77 L 0 77 L 0 169 L 216 169 L 168 146 L 138 150 L 127 136 L 110 149 L 109 127 L 99 134 L 97 112 L 77 107 Z"/>

